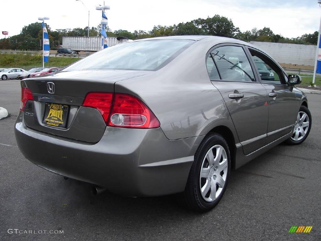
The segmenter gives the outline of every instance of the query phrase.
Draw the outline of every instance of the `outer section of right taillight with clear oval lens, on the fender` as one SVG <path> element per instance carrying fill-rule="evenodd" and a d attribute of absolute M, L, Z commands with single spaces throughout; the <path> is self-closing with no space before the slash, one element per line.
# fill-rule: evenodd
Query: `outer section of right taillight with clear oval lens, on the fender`
<path fill-rule="evenodd" d="M 127 128 L 158 128 L 160 122 L 149 108 L 129 94 L 115 94 L 108 126 Z"/>

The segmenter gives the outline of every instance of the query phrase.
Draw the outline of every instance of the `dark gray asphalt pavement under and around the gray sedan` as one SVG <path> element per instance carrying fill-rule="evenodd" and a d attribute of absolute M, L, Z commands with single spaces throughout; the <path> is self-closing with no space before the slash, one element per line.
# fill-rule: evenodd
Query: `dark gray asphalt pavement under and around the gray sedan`
<path fill-rule="evenodd" d="M 299 146 L 281 144 L 232 171 L 218 206 L 198 214 L 173 196 L 93 196 L 90 184 L 30 163 L 13 132 L 20 81 L 0 81 L 0 106 L 10 114 L 0 120 L 0 239 L 321 240 L 321 95 L 307 95 L 313 121 L 307 140 Z M 291 226 L 313 228 L 289 233 Z"/>

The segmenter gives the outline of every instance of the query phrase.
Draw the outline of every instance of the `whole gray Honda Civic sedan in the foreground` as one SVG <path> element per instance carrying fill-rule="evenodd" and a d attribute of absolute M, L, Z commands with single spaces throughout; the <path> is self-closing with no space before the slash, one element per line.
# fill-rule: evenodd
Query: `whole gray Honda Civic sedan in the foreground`
<path fill-rule="evenodd" d="M 256 62 L 274 78 L 261 78 Z M 32 163 L 96 192 L 178 193 L 202 212 L 220 201 L 231 169 L 308 137 L 300 82 L 240 40 L 136 40 L 22 80 L 15 136 Z"/>

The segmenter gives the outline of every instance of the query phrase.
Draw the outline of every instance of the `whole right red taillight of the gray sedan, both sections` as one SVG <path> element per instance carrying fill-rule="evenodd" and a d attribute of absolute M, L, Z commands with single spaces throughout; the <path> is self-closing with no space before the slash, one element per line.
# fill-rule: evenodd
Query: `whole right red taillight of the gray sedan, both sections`
<path fill-rule="evenodd" d="M 88 93 L 82 106 L 100 111 L 108 126 L 158 128 L 160 122 L 138 98 L 129 94 Z"/>

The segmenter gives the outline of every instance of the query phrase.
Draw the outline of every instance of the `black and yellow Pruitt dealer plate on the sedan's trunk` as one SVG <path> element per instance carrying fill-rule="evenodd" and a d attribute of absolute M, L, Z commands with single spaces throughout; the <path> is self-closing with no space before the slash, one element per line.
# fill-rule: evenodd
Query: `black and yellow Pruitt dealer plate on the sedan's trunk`
<path fill-rule="evenodd" d="M 65 127 L 68 116 L 68 105 L 46 103 L 42 123 L 54 127 Z"/>

